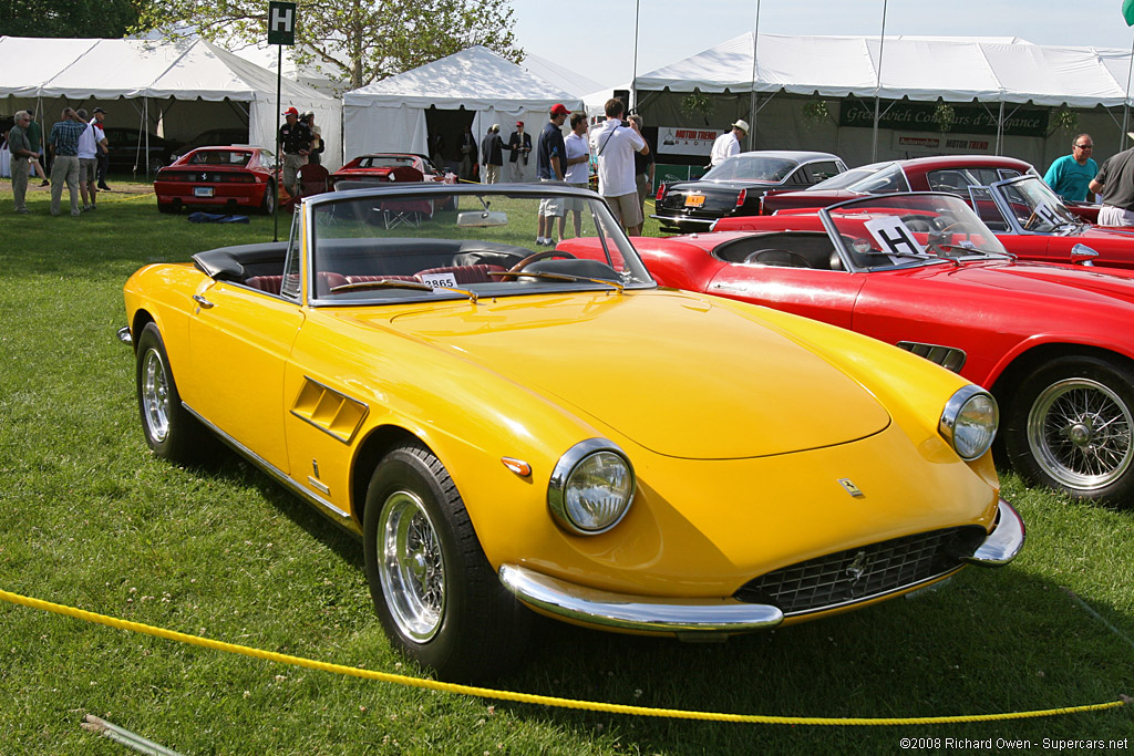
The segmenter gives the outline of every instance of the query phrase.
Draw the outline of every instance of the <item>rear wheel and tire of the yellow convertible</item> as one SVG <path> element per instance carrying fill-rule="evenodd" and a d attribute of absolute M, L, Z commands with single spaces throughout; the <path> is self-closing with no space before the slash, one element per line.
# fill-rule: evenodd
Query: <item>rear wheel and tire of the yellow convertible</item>
<path fill-rule="evenodd" d="M 138 413 L 146 445 L 162 459 L 193 462 L 211 444 L 209 432 L 181 406 L 169 356 L 155 323 L 138 338 L 135 363 Z"/>

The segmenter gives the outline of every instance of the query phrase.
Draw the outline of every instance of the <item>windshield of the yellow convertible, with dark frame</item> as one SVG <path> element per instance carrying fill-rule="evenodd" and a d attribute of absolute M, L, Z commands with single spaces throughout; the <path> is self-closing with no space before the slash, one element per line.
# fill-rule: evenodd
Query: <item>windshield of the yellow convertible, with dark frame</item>
<path fill-rule="evenodd" d="M 314 304 L 654 286 L 607 204 L 591 192 L 425 186 L 335 192 L 304 204 Z M 560 245 L 570 252 L 536 243 L 541 213 L 557 236 L 565 229 Z M 291 249 L 301 248 L 298 233 Z M 294 260 L 288 272 L 295 287 Z"/>

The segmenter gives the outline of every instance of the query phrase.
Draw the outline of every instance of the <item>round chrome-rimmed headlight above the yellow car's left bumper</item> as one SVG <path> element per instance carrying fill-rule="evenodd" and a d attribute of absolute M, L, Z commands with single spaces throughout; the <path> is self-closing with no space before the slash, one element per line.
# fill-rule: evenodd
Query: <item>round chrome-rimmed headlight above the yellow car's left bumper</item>
<path fill-rule="evenodd" d="M 559 458 L 548 484 L 548 507 L 567 530 L 598 535 L 618 525 L 634 499 L 634 468 L 606 439 L 589 439 Z"/>

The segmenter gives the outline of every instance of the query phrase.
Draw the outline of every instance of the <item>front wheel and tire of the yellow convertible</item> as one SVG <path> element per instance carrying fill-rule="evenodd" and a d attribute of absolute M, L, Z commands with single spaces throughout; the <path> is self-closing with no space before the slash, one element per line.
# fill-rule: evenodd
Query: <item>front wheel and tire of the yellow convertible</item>
<path fill-rule="evenodd" d="M 395 449 L 374 469 L 363 549 L 382 628 L 407 656 L 462 682 L 519 661 L 531 613 L 500 585 L 452 478 L 422 444 Z"/>

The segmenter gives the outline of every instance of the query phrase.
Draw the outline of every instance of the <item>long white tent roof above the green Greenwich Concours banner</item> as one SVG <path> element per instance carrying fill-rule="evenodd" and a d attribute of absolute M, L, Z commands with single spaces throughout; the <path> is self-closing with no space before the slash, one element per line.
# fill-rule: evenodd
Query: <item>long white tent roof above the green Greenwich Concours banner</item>
<path fill-rule="evenodd" d="M 747 32 L 638 76 L 635 87 L 1116 107 L 1127 97 L 1129 59 L 1129 51 L 1016 37 L 892 36 L 882 45 L 878 37 L 760 34 L 753 44 Z"/>

